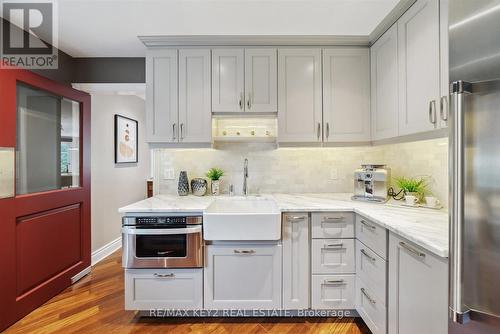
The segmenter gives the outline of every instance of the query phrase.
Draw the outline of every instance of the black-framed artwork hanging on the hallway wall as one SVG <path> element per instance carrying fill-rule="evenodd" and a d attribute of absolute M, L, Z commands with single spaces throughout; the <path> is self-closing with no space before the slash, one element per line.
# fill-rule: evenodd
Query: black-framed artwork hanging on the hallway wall
<path fill-rule="evenodd" d="M 115 114 L 115 163 L 137 163 L 139 155 L 138 126 L 135 119 Z"/>

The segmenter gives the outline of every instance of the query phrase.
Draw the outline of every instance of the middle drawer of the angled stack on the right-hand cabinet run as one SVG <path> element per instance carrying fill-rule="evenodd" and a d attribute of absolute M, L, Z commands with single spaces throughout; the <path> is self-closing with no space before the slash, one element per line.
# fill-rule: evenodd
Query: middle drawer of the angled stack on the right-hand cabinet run
<path fill-rule="evenodd" d="M 361 241 L 356 241 L 356 274 L 384 305 L 386 304 L 387 262 Z"/>

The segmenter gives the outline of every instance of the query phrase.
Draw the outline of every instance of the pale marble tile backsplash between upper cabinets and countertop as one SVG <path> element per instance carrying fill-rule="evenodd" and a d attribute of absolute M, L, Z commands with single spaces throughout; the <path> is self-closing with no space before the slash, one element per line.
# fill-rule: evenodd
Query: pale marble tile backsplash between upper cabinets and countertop
<path fill-rule="evenodd" d="M 251 193 L 352 192 L 354 169 L 363 163 L 383 163 L 392 176 L 428 176 L 430 190 L 446 205 L 448 197 L 448 140 L 446 138 L 382 146 L 281 148 L 262 150 L 244 145 L 233 149 L 155 149 L 155 182 L 160 193 L 177 193 L 179 171 L 203 177 L 210 167 L 226 171 L 221 189 L 229 183 L 241 193 L 243 160 L 249 160 Z M 175 180 L 163 172 L 173 168 Z"/>

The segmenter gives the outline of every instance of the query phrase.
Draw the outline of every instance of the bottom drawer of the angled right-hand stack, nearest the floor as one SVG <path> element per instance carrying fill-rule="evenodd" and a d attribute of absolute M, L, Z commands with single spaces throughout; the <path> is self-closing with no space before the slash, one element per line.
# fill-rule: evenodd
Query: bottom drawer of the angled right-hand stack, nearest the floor
<path fill-rule="evenodd" d="M 356 280 L 357 311 L 373 334 L 386 334 L 387 309 L 377 295 L 359 278 Z"/>

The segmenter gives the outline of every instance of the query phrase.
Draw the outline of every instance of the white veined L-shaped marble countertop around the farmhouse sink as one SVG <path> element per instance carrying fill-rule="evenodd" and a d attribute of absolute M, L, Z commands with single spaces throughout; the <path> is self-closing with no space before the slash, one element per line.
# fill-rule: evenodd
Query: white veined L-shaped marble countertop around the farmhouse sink
<path fill-rule="evenodd" d="M 212 201 L 220 197 L 158 195 L 118 211 L 123 214 L 203 213 Z M 351 194 L 346 193 L 266 194 L 260 197 L 276 201 L 282 212 L 353 211 L 440 257 L 448 257 L 446 210 L 402 207 L 395 201 L 386 204 L 353 201 Z"/>

